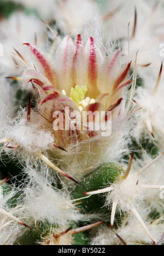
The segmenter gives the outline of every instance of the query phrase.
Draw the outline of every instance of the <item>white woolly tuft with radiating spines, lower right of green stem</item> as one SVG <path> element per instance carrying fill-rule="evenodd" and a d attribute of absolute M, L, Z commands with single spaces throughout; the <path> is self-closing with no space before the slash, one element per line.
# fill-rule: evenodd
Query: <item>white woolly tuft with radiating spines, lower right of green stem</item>
<path fill-rule="evenodd" d="M 163 157 L 163 156 L 162 156 Z M 133 161 L 133 167 L 126 179 L 120 179 L 113 184 L 110 184 L 110 191 L 106 197 L 105 206 L 112 206 L 113 202 L 117 203 L 116 211 L 130 213 L 132 208 L 136 208 L 145 215 L 153 212 L 158 212 L 160 216 L 163 214 L 163 199 L 164 193 L 162 186 L 163 179 L 163 159 L 158 159 L 153 165 L 153 158 L 146 152 L 142 154 L 142 159 Z M 150 165 L 145 171 L 138 171 Z M 137 170 L 137 171 L 136 171 Z M 142 185 L 157 185 L 160 189 L 146 189 Z"/>

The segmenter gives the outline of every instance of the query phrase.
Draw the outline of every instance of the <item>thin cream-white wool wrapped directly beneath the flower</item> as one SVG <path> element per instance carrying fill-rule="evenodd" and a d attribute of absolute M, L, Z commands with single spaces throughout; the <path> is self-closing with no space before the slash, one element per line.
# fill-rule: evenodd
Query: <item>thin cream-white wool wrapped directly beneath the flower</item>
<path fill-rule="evenodd" d="M 112 120 L 112 134 L 70 145 L 67 152 L 59 152 L 53 156 L 62 170 L 65 170 L 72 177 L 81 179 L 86 174 L 95 170 L 103 162 L 120 161 L 129 153 L 127 130 L 130 129 L 130 122 L 127 118 L 116 117 Z M 65 179 L 65 182 L 67 180 Z"/>

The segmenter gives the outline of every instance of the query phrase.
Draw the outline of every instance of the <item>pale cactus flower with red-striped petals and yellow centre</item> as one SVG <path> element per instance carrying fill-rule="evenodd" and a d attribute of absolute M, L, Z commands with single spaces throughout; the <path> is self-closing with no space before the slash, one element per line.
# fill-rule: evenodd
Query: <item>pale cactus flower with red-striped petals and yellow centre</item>
<path fill-rule="evenodd" d="M 131 62 L 119 70 L 120 49 L 106 57 L 92 37 L 84 45 L 80 34 L 75 43 L 68 34 L 58 46 L 52 65 L 36 46 L 27 46 L 34 56 L 37 71 L 27 70 L 25 73 L 30 75 L 30 82 L 38 88 L 42 103 L 39 108 L 46 119 L 53 121 L 54 112 L 63 112 L 65 107 L 81 112 L 90 110 L 92 113 L 109 110 L 120 115 L 122 90 L 131 83 L 127 80 Z M 72 134 L 70 130 L 55 133 L 64 148 L 83 141 L 86 135 L 87 138 L 99 135 L 95 131 L 86 131 L 84 135 L 80 129 L 72 131 Z"/>

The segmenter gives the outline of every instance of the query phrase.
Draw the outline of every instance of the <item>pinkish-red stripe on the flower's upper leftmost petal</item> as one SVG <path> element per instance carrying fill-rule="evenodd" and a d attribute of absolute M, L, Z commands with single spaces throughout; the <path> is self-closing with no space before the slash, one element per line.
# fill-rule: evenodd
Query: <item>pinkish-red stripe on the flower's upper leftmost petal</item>
<path fill-rule="evenodd" d="M 52 85 L 55 85 L 54 71 L 50 67 L 48 61 L 46 61 L 44 56 L 32 44 L 26 43 L 26 45 L 32 51 L 33 55 L 36 56 L 40 65 L 42 65 L 46 78 L 49 79 Z"/>

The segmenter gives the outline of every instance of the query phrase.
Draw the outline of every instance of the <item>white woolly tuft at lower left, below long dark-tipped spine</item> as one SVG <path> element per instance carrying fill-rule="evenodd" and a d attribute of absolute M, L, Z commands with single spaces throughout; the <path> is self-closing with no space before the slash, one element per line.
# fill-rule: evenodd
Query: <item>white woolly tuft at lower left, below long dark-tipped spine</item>
<path fill-rule="evenodd" d="M 45 170 L 37 170 L 30 165 L 24 170 L 28 174 L 30 182 L 24 189 L 25 205 L 27 208 L 27 218 L 34 220 L 48 220 L 50 223 L 66 225 L 73 220 L 77 220 L 78 211 L 73 207 L 66 186 L 63 189 L 53 188 L 50 179 L 43 176 Z M 42 174 L 40 174 L 42 173 Z M 46 176 L 48 176 L 46 174 Z M 54 179 L 54 184 L 55 179 Z M 56 185 L 55 185 L 56 186 Z M 77 216 L 76 216 L 77 213 Z"/>

